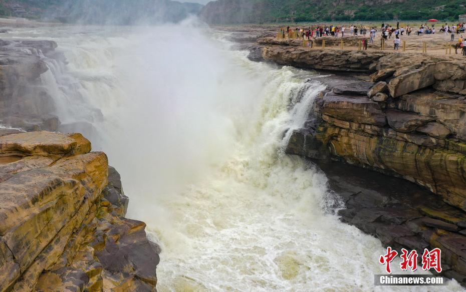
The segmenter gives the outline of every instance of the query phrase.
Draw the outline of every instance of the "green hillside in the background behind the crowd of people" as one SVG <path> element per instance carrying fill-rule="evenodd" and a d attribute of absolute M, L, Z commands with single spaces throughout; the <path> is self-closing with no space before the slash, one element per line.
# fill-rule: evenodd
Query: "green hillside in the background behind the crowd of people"
<path fill-rule="evenodd" d="M 457 20 L 462 0 L 217 0 L 201 18 L 211 24 L 315 21 Z M 439 7 L 443 6 L 444 7 Z"/>

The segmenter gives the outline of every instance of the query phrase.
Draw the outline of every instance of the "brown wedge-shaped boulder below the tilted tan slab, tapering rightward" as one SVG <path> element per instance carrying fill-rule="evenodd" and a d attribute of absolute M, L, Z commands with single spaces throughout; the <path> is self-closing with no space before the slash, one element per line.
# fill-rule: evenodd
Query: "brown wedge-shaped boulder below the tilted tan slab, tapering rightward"
<path fill-rule="evenodd" d="M 421 116 L 413 113 L 407 113 L 397 110 L 386 111 L 388 125 L 398 132 L 410 133 L 416 128 L 434 121 L 435 118 L 429 116 Z"/>

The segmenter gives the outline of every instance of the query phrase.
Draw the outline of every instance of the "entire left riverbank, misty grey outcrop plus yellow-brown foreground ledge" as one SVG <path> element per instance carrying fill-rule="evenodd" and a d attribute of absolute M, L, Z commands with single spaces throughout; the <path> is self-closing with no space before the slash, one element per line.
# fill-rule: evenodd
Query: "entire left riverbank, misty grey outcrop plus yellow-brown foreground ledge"
<path fill-rule="evenodd" d="M 125 218 L 120 175 L 81 134 L 57 132 L 79 125 L 54 115 L 44 85 L 47 61 L 66 64 L 56 48 L 0 39 L 0 291 L 153 291 L 160 248 Z"/>

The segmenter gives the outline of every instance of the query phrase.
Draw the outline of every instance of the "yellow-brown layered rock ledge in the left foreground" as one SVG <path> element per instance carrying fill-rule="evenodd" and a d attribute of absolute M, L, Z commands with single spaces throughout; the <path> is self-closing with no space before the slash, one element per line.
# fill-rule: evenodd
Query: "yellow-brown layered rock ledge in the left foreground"
<path fill-rule="evenodd" d="M 159 247 L 81 134 L 0 129 L 0 291 L 154 291 Z"/>

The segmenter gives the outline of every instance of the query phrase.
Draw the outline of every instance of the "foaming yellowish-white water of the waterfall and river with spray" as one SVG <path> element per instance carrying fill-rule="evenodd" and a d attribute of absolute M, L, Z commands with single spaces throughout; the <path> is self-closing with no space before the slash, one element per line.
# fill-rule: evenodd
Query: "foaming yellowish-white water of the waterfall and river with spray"
<path fill-rule="evenodd" d="M 43 83 L 65 128 L 121 173 L 128 216 L 162 248 L 159 291 L 382 290 L 380 242 L 341 223 L 325 175 L 283 153 L 323 90 L 314 73 L 251 62 L 195 21 L 10 37 L 67 57 L 45 58 Z"/>

